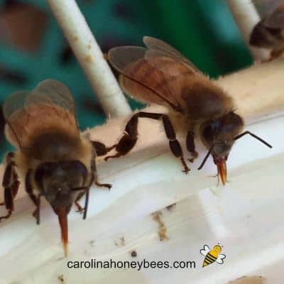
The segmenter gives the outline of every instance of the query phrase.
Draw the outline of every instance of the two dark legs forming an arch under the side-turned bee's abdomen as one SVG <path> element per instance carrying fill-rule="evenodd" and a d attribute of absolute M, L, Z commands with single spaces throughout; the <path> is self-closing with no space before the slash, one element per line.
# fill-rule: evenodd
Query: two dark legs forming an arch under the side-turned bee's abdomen
<path fill-rule="evenodd" d="M 126 124 L 125 128 L 126 133 L 121 138 L 119 143 L 117 143 L 116 145 L 117 153 L 115 155 L 107 156 L 104 159 L 108 160 L 109 158 L 119 158 L 121 155 L 126 155 L 127 153 L 129 153 L 129 151 L 131 151 L 131 149 L 135 146 L 136 141 L 138 139 L 138 131 L 137 131 L 138 118 L 147 118 L 147 119 L 155 119 L 163 121 L 165 135 L 167 136 L 170 143 L 170 151 L 172 151 L 175 157 L 180 158 L 182 165 L 184 167 L 183 172 L 188 173 L 190 169 L 187 167 L 185 159 L 183 158 L 182 148 L 177 138 L 175 137 L 175 130 L 173 129 L 173 125 L 171 124 L 170 119 L 165 114 L 153 114 L 143 111 L 133 114 L 128 124 Z"/>

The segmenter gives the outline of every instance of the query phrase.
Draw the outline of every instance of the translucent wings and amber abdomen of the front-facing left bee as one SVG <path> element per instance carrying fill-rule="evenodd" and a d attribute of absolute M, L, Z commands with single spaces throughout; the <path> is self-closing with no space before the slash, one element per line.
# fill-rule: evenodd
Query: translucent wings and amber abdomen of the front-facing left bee
<path fill-rule="evenodd" d="M 33 91 L 11 94 L 4 102 L 6 136 L 20 147 L 28 148 L 31 139 L 45 129 L 80 132 L 75 119 L 75 102 L 69 89 L 56 80 L 45 80 Z"/>

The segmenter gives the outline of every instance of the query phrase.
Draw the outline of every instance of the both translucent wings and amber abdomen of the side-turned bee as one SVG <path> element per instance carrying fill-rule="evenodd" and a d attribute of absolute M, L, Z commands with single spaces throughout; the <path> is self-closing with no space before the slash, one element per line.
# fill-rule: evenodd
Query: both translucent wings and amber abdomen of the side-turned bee
<path fill-rule="evenodd" d="M 150 37 L 143 40 L 147 48 L 124 46 L 109 50 L 109 62 L 121 73 L 121 87 L 142 102 L 183 112 L 184 86 L 190 82 L 190 77 L 201 73 L 162 40 Z"/>

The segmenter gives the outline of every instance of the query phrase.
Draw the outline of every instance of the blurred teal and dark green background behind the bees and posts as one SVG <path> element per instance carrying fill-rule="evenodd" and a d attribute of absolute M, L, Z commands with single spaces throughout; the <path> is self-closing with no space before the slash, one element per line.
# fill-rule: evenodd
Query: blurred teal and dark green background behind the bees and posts
<path fill-rule="evenodd" d="M 238 1 L 238 0 L 236 0 Z M 104 52 L 142 45 L 143 35 L 165 40 L 211 77 L 251 64 L 251 56 L 223 0 L 77 0 Z M 77 103 L 80 128 L 106 117 L 45 0 L 0 1 L 0 103 L 19 89 L 54 78 Z M 131 101 L 136 109 L 141 104 Z M 1 151 L 8 146 L 3 136 Z"/>

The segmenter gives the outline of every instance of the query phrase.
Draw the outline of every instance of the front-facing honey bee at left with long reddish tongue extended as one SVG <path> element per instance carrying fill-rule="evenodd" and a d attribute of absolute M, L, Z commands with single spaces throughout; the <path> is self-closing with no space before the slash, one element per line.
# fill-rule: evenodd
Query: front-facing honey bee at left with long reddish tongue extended
<path fill-rule="evenodd" d="M 4 161 L 4 205 L 7 219 L 24 177 L 26 192 L 35 204 L 33 216 L 40 224 L 40 197 L 58 215 L 62 245 L 67 256 L 67 214 L 73 202 L 87 217 L 89 187 L 97 180 L 95 158 L 109 149 L 80 134 L 75 118 L 75 102 L 70 90 L 56 80 L 40 82 L 33 91 L 15 92 L 4 102 L 7 140 L 16 147 Z M 84 208 L 79 200 L 86 195 Z"/>

